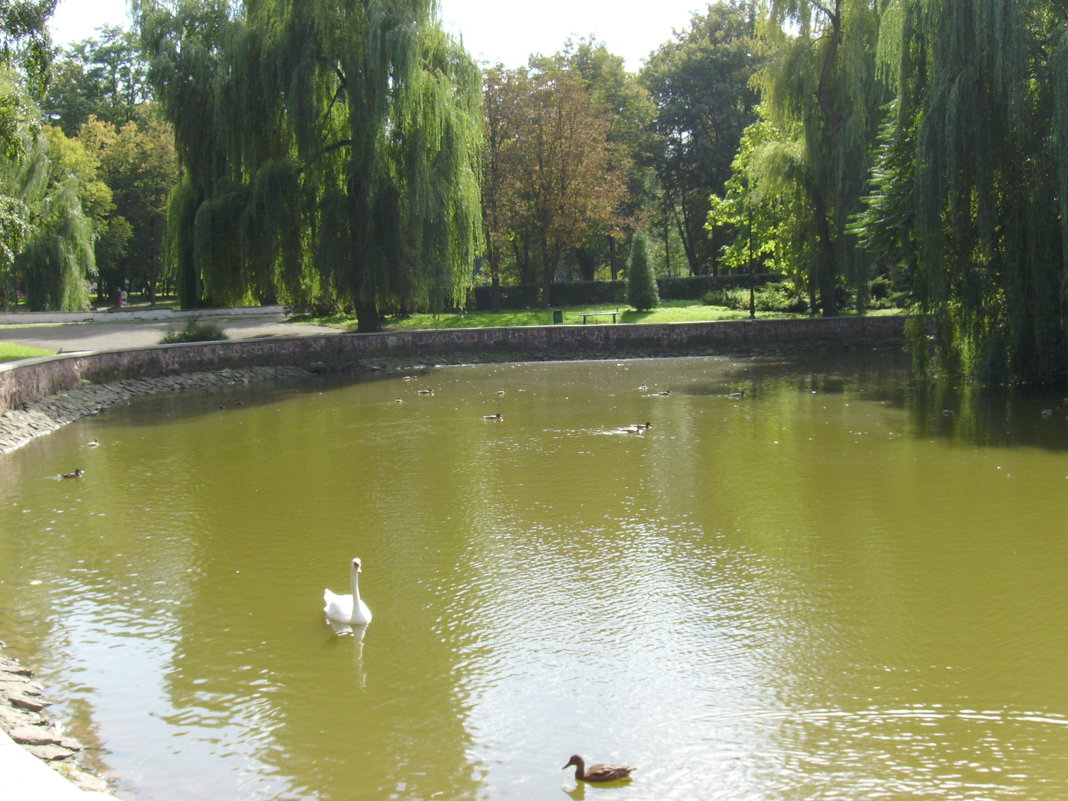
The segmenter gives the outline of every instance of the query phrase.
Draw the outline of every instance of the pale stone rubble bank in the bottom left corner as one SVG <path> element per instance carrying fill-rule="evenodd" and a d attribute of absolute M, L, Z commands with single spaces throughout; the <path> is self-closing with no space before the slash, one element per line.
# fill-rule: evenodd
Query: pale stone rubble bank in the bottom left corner
<path fill-rule="evenodd" d="M 0 656 L 0 728 L 76 786 L 106 792 L 107 782 L 78 767 L 81 743 L 64 735 L 43 713 L 48 705 L 44 688 L 33 680 L 33 672 L 15 659 Z"/>

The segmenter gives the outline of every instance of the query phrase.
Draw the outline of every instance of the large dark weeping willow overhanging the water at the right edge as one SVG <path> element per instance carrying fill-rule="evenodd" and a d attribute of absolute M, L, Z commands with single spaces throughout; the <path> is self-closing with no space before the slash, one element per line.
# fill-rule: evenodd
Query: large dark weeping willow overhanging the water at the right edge
<path fill-rule="evenodd" d="M 904 265 L 939 368 L 1068 379 L 1068 6 L 897 0 L 864 242 Z"/>

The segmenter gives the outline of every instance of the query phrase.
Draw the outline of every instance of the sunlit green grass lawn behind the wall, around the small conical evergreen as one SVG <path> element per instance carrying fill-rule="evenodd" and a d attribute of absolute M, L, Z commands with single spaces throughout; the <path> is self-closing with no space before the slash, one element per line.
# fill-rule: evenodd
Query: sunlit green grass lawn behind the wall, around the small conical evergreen
<path fill-rule="evenodd" d="M 721 319 L 745 319 L 749 312 L 718 305 L 705 305 L 692 300 L 664 300 L 660 307 L 649 312 L 635 312 L 625 303 L 601 303 L 584 307 L 553 307 L 551 309 L 509 309 L 502 312 L 450 312 L 446 314 L 413 314 L 410 317 L 391 318 L 386 321 L 387 331 L 418 330 L 428 328 L 497 328 L 501 326 L 548 326 L 552 325 L 553 309 L 564 313 L 565 325 L 581 325 L 582 312 L 621 312 L 619 323 L 707 323 Z M 757 317 L 797 317 L 803 315 L 778 312 L 757 312 Z M 587 325 L 610 321 L 608 317 L 595 317 Z M 356 330 L 356 319 L 347 316 L 305 317 L 301 323 L 332 326 L 345 331 Z"/>

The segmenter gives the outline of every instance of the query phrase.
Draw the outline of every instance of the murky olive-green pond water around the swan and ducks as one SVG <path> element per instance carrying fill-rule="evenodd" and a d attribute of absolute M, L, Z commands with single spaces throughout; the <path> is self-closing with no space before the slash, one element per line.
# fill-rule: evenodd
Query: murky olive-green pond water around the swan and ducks
<path fill-rule="evenodd" d="M 1066 413 L 885 354 L 156 397 L 0 458 L 0 633 L 129 801 L 1063 798 Z"/>

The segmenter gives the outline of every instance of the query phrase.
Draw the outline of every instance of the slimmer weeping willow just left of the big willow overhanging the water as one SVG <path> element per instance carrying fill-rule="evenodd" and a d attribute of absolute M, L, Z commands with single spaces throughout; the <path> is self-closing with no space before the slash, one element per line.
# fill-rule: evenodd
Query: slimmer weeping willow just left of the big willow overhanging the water
<path fill-rule="evenodd" d="M 847 226 L 861 209 L 886 100 L 876 80 L 877 6 L 876 0 L 768 0 L 760 28 L 768 60 L 755 80 L 764 114 L 781 136 L 753 154 L 754 191 L 804 194 L 807 219 L 795 229 L 812 232 L 807 278 L 826 316 L 838 313 L 844 281 L 861 307 L 867 286 L 867 261 Z"/>

